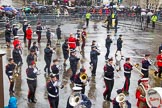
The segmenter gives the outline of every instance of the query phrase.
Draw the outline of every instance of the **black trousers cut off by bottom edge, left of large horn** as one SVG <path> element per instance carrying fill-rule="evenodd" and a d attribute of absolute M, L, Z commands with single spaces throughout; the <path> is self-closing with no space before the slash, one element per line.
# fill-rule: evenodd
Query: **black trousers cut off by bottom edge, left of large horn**
<path fill-rule="evenodd" d="M 58 104 L 59 104 L 59 97 L 50 97 L 48 96 L 48 101 L 50 104 L 50 108 L 58 108 Z"/>

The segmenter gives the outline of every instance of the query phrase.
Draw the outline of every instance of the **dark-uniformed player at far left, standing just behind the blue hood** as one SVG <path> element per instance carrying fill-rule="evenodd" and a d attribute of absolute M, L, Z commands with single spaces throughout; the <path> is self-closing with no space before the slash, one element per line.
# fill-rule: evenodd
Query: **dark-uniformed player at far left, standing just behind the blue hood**
<path fill-rule="evenodd" d="M 6 65 L 6 74 L 8 76 L 8 79 L 10 81 L 10 87 L 9 87 L 9 92 L 10 93 L 14 93 L 14 79 L 13 79 L 13 75 L 14 75 L 14 70 L 16 68 L 16 64 L 14 63 L 13 58 L 9 58 L 8 59 L 8 64 Z"/>

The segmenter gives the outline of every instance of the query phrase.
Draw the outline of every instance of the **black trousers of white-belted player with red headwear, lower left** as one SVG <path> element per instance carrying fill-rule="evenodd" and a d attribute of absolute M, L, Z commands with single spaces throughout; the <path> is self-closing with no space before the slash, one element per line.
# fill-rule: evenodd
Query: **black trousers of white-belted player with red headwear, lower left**
<path fill-rule="evenodd" d="M 27 80 L 27 84 L 29 87 L 28 99 L 30 99 L 31 101 L 34 101 L 35 91 L 36 91 L 36 87 L 37 87 L 37 81 L 36 80 Z"/>

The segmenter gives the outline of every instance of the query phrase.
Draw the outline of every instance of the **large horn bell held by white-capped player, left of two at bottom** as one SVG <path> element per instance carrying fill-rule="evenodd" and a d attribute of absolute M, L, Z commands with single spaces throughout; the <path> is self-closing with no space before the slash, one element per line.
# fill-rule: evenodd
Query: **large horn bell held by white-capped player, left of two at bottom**
<path fill-rule="evenodd" d="M 69 98 L 69 104 L 73 107 L 76 107 L 80 104 L 81 102 L 81 95 L 78 94 L 72 94 Z"/>

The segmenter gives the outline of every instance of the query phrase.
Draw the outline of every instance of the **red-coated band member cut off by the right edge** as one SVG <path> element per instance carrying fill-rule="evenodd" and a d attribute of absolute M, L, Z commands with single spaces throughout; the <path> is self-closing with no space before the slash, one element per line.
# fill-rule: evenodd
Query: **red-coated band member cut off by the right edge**
<path fill-rule="evenodd" d="M 162 73 L 162 50 L 161 53 L 157 55 L 156 57 L 157 60 L 157 66 L 158 66 L 158 77 L 161 78 L 161 73 Z"/>

